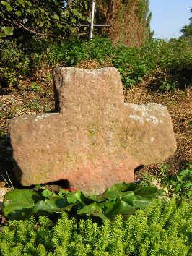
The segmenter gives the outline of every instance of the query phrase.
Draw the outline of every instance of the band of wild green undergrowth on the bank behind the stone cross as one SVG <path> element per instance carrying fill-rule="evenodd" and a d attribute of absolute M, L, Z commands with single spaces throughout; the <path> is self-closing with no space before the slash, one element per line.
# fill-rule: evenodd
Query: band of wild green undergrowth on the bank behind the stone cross
<path fill-rule="evenodd" d="M 32 46 L 30 46 L 32 47 Z M 191 38 L 171 40 L 152 40 L 147 46 L 126 48 L 119 43 L 113 46 L 107 38 L 94 38 L 91 41 L 80 39 L 62 43 L 41 42 L 34 50 L 23 51 L 16 42 L 5 42 L 1 48 L 1 88 L 18 85 L 36 69 L 54 69 L 57 66 L 74 67 L 79 62 L 94 59 L 98 67 L 107 64 L 118 68 L 123 86 L 136 85 L 154 72 L 176 74 L 182 72 L 186 86 L 191 84 Z M 180 81 L 165 80 L 160 90 L 183 89 Z"/>

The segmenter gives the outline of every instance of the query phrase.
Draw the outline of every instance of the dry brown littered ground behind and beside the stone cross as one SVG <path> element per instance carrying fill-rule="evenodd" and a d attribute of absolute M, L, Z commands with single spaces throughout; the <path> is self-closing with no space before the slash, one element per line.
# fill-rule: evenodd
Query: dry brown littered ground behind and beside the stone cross
<path fill-rule="evenodd" d="M 92 63 L 89 68 L 95 68 Z M 79 67 L 85 67 L 79 64 Z M 160 103 L 167 106 L 173 120 L 173 129 L 178 143 L 178 148 L 172 158 L 166 161 L 167 171 L 170 174 L 178 174 L 184 166 L 183 162 L 191 161 L 191 89 L 175 90 L 173 92 L 158 92 L 160 80 L 164 74 L 154 74 L 145 77 L 133 88 L 125 89 L 126 103 Z M 12 181 L 14 187 L 21 187 L 14 178 L 14 166 L 12 162 L 12 148 L 9 141 L 9 120 L 14 116 L 32 114 L 44 111 L 53 111 L 53 82 L 51 70 L 37 71 L 31 79 L 23 80 L 17 87 L 5 88 L 0 93 L 0 182 L 6 179 Z M 144 172 L 157 176 L 161 164 L 141 166 L 136 169 L 136 179 L 141 179 Z M 7 173 L 6 173 L 7 171 Z M 8 176 L 7 176 L 8 174 Z M 9 182 L 10 183 L 10 182 Z M 0 183 L 1 184 L 1 183 Z M 6 184 L 7 187 L 9 187 Z M 57 190 L 65 187 L 65 184 L 48 184 L 48 189 Z M 56 186 L 56 187 L 54 187 Z M 57 187 L 58 186 L 58 187 Z"/>

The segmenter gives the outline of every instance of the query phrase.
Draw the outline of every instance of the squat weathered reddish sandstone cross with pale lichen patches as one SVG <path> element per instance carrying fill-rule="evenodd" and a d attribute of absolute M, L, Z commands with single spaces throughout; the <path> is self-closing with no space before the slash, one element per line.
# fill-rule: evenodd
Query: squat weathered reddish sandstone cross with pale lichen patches
<path fill-rule="evenodd" d="M 97 194 L 134 182 L 134 168 L 175 152 L 167 108 L 125 104 L 118 69 L 60 67 L 53 80 L 56 113 L 17 116 L 9 123 L 22 185 L 67 179 L 72 189 Z"/>

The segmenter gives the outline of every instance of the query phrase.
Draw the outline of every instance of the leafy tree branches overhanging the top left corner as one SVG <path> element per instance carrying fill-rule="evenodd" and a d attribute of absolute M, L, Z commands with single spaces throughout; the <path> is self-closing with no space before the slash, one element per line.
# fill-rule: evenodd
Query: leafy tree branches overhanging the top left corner
<path fill-rule="evenodd" d="M 22 35 L 22 38 L 30 38 L 35 35 L 37 38 L 46 38 L 66 36 L 67 33 L 78 31 L 78 27 L 75 28 L 74 25 L 87 20 L 83 13 L 84 1 L 75 0 L 71 7 L 67 6 L 67 2 L 1 1 L 0 15 L 3 22 L 0 26 L 0 37 L 13 35 L 17 38 Z"/>

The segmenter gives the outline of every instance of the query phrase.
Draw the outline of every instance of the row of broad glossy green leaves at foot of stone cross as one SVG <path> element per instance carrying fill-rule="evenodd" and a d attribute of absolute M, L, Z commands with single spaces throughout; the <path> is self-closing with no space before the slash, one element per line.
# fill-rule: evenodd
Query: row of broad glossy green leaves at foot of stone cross
<path fill-rule="evenodd" d="M 121 182 L 106 189 L 102 195 L 84 195 L 80 191 L 61 191 L 58 195 L 39 189 L 14 189 L 4 197 L 4 214 L 9 219 L 26 218 L 27 214 L 54 214 L 67 211 L 71 215 L 92 216 L 113 220 L 117 214 L 124 219 L 136 210 L 147 207 L 157 196 L 156 187 L 141 187 Z"/>

